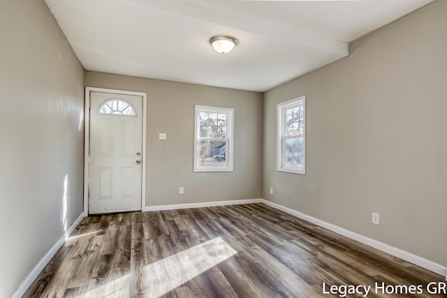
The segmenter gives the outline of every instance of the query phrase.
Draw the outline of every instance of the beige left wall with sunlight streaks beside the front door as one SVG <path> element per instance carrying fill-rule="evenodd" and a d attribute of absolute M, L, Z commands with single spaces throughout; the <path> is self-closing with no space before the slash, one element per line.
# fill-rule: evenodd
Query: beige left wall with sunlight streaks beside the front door
<path fill-rule="evenodd" d="M 82 214 L 83 69 L 43 1 L 0 4 L 0 297 Z"/>

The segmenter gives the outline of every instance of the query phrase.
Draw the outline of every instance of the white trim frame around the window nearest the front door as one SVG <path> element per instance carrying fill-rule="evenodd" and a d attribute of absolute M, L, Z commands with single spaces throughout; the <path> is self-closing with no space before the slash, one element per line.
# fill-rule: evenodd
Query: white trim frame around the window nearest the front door
<path fill-rule="evenodd" d="M 194 108 L 194 172 L 233 172 L 233 119 L 234 119 L 234 111 L 235 109 L 229 107 L 210 107 L 208 105 L 196 105 Z M 211 166 L 211 165 L 200 165 L 200 158 L 198 156 L 197 148 L 198 148 L 198 140 L 199 137 L 197 135 L 198 131 L 200 131 L 200 123 L 198 123 L 198 113 L 199 112 L 220 112 L 228 114 L 226 120 L 226 131 L 228 138 L 228 145 L 226 147 L 226 161 L 228 163 L 227 166 Z"/>

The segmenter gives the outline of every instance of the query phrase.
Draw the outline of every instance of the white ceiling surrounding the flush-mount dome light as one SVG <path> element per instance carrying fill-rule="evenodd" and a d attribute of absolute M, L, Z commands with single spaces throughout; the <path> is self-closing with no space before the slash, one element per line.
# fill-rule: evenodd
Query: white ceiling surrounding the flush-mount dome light
<path fill-rule="evenodd" d="M 82 66 L 265 91 L 349 55 L 349 43 L 433 0 L 45 0 Z M 239 40 L 218 54 L 208 40 Z"/>

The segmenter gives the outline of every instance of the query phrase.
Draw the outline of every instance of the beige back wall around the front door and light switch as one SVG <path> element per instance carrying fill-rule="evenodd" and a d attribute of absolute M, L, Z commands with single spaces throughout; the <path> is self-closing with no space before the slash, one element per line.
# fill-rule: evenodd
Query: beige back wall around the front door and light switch
<path fill-rule="evenodd" d="M 262 94 L 90 71 L 85 85 L 147 93 L 146 206 L 261 198 Z M 194 105 L 235 109 L 234 172 L 193 172 Z"/>

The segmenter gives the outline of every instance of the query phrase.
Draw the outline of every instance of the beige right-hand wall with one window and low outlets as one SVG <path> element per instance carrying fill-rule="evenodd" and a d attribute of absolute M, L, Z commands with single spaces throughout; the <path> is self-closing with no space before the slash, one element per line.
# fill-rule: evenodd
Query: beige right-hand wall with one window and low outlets
<path fill-rule="evenodd" d="M 263 198 L 447 265 L 446 15 L 436 1 L 266 92 Z M 276 105 L 302 95 L 305 176 L 275 170 Z"/>

